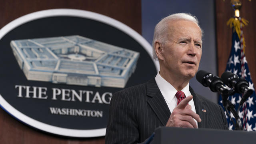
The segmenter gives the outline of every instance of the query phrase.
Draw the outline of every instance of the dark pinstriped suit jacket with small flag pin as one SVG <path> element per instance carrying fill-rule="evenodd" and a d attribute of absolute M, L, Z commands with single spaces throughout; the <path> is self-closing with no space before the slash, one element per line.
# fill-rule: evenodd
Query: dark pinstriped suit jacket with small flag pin
<path fill-rule="evenodd" d="M 228 129 L 222 108 L 206 98 L 190 93 L 202 122 L 199 128 Z M 202 109 L 206 112 L 202 112 Z M 156 81 L 150 80 L 116 92 L 110 102 L 106 144 L 133 144 L 146 140 L 159 126 L 165 126 L 170 110 Z"/>

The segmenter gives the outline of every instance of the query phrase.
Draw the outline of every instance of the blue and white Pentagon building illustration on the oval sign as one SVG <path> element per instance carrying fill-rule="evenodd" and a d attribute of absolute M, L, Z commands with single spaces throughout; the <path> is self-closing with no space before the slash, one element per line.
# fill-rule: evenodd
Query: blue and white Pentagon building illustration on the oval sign
<path fill-rule="evenodd" d="M 139 53 L 82 36 L 12 40 L 28 80 L 124 88 Z"/>

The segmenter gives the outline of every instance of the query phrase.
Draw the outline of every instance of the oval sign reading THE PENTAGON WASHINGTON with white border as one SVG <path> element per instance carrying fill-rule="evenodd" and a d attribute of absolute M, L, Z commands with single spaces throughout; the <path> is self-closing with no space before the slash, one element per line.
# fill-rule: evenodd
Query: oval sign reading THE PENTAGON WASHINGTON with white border
<path fill-rule="evenodd" d="M 85 10 L 17 18 L 0 30 L 0 48 L 0 106 L 61 136 L 104 136 L 113 93 L 154 78 L 158 69 L 140 34 Z"/>

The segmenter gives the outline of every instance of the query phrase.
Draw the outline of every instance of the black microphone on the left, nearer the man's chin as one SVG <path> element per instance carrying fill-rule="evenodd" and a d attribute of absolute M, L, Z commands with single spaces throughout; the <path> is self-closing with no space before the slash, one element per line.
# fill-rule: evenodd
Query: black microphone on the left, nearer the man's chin
<path fill-rule="evenodd" d="M 211 73 L 204 70 L 199 70 L 196 74 L 196 80 L 203 86 L 209 87 L 212 92 L 220 92 L 222 95 L 228 94 L 228 88 L 218 76 L 213 76 Z"/>

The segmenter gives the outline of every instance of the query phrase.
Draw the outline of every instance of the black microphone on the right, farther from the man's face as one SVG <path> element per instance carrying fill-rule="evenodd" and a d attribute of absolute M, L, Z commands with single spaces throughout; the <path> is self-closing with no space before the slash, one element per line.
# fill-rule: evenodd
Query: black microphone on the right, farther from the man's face
<path fill-rule="evenodd" d="M 232 72 L 224 72 L 221 75 L 221 79 L 223 80 L 224 84 L 230 88 L 233 88 L 234 91 L 244 94 L 239 103 L 240 105 L 242 105 L 253 93 L 253 90 L 249 87 L 248 82 L 244 78 L 239 78 Z"/>

